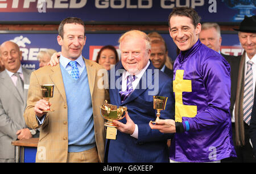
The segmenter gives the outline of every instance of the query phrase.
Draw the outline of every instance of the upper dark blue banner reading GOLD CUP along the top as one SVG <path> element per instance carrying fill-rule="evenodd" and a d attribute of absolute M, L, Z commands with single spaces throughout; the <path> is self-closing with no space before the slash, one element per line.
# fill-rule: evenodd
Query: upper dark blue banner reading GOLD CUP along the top
<path fill-rule="evenodd" d="M 202 22 L 241 22 L 255 14 L 256 0 L 1 0 L 2 22 L 60 22 L 77 16 L 86 22 L 167 23 L 174 7 L 189 6 Z"/>

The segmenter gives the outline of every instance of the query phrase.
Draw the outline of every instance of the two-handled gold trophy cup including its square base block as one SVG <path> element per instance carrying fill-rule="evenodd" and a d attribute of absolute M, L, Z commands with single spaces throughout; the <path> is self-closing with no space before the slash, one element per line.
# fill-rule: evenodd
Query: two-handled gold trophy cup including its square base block
<path fill-rule="evenodd" d="M 117 105 L 108 104 L 108 101 L 105 100 L 105 104 L 101 105 L 101 116 L 108 120 L 105 122 L 105 126 L 107 128 L 106 138 L 107 139 L 115 139 L 117 135 L 117 125 L 113 123 L 113 120 L 121 120 L 125 117 L 125 112 L 127 111 L 127 107 L 119 107 Z"/>

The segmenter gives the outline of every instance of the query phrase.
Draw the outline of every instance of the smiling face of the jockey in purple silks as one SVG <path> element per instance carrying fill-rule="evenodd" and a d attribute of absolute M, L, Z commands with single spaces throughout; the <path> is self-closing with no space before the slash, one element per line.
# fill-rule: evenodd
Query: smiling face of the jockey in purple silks
<path fill-rule="evenodd" d="M 190 49 L 199 39 L 201 24 L 193 26 L 192 20 L 187 16 L 172 16 L 170 19 L 170 36 L 181 51 Z"/>

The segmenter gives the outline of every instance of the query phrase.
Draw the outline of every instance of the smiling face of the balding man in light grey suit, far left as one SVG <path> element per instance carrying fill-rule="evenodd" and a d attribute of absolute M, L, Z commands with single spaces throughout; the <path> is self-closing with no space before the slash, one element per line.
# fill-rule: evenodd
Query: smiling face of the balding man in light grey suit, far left
<path fill-rule="evenodd" d="M 0 46 L 2 63 L 8 71 L 16 73 L 22 60 L 19 46 L 11 41 L 6 41 Z"/>

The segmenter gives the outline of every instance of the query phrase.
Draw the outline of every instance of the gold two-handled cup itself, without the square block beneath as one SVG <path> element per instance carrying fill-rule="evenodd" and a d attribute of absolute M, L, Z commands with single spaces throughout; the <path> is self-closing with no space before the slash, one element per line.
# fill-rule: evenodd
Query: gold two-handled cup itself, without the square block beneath
<path fill-rule="evenodd" d="M 108 120 L 105 122 L 105 126 L 116 128 L 117 125 L 113 123 L 113 120 L 121 120 L 125 117 L 125 112 L 127 107 L 118 107 L 117 105 L 108 104 L 108 101 L 105 100 L 105 104 L 101 105 L 101 116 Z"/>

